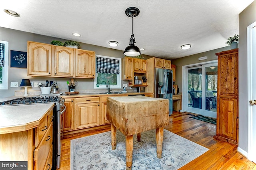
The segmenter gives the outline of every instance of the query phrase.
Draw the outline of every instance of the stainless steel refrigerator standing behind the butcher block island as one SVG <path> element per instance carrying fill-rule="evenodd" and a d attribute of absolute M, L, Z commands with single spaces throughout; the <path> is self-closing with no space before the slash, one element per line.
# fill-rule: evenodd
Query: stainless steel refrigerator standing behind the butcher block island
<path fill-rule="evenodd" d="M 154 97 L 169 99 L 169 116 L 172 114 L 172 70 L 154 69 Z"/>

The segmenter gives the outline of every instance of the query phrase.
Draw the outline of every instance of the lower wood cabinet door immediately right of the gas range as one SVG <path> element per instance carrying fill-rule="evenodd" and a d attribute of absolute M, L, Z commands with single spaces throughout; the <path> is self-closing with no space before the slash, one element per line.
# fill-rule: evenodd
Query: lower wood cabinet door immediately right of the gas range
<path fill-rule="evenodd" d="M 74 98 L 65 98 L 66 111 L 62 114 L 63 132 L 73 130 L 74 128 Z"/>

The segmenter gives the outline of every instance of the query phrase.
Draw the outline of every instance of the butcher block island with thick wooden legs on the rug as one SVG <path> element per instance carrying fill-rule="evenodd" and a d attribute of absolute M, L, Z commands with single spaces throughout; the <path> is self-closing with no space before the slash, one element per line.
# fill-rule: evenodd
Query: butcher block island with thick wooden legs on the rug
<path fill-rule="evenodd" d="M 116 149 L 116 129 L 126 136 L 126 168 L 132 168 L 133 135 L 156 129 L 157 157 L 162 156 L 164 126 L 169 124 L 169 100 L 146 96 L 107 98 L 107 119 L 111 123 L 112 149 Z"/>

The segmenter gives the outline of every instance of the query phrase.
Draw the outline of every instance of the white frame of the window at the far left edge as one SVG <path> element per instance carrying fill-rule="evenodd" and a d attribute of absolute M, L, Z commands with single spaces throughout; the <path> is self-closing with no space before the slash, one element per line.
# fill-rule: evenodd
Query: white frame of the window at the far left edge
<path fill-rule="evenodd" d="M 0 90 L 8 90 L 8 41 L 0 40 L 0 43 L 4 44 L 3 80 L 2 83 L 0 83 Z"/>

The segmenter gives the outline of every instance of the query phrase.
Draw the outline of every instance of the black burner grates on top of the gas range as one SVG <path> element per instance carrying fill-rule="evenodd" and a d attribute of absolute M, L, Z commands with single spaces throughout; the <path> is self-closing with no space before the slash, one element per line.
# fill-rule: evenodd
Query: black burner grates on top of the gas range
<path fill-rule="evenodd" d="M 23 97 L 16 98 L 0 102 L 0 105 L 14 105 L 14 104 L 36 104 L 36 103 L 53 103 L 59 100 L 58 96 L 34 96 L 34 97 Z"/>

